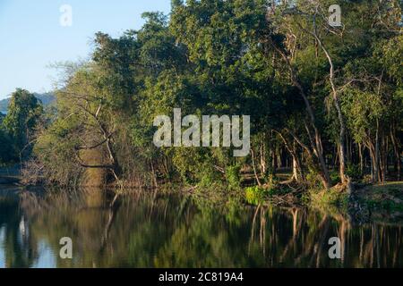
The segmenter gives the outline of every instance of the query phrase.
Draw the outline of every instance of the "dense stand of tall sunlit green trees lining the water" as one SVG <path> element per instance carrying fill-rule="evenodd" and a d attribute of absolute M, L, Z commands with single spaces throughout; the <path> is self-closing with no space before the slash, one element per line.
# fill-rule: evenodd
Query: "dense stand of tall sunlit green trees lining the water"
<path fill-rule="evenodd" d="M 331 27 L 339 4 L 342 25 Z M 139 30 L 98 33 L 68 64 L 57 114 L 37 133 L 30 174 L 61 184 L 211 186 L 290 181 L 330 188 L 400 180 L 401 6 L 392 1 L 188 0 Z M 152 144 L 155 116 L 251 115 L 250 156 Z M 8 116 L 8 115 L 7 115 Z M 33 176 L 34 177 L 34 176 Z"/>

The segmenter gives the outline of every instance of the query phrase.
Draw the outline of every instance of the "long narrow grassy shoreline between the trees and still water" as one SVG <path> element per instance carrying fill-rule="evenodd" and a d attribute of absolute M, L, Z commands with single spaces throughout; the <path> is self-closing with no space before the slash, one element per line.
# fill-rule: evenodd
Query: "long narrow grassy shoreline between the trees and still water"
<path fill-rule="evenodd" d="M 23 186 L 21 176 L 0 175 L 0 188 L 23 189 L 66 189 L 61 186 Z M 337 187 L 337 186 L 336 186 Z M 342 215 L 351 223 L 403 223 L 403 181 L 390 181 L 381 184 L 355 184 L 355 191 L 348 199 L 346 189 L 333 187 L 323 189 L 296 189 L 285 194 L 265 194 L 254 203 L 248 201 L 247 188 L 228 190 L 226 188 L 209 189 L 199 186 L 185 186 L 167 183 L 159 187 L 124 187 L 116 184 L 106 186 L 77 186 L 74 189 L 108 189 L 119 195 L 130 194 L 132 190 L 142 189 L 163 194 L 176 193 L 192 198 L 209 201 L 215 206 L 226 206 L 235 202 L 244 207 L 279 207 L 289 209 L 308 208 L 324 212 L 331 216 Z M 257 186 L 253 187 L 258 189 Z"/>

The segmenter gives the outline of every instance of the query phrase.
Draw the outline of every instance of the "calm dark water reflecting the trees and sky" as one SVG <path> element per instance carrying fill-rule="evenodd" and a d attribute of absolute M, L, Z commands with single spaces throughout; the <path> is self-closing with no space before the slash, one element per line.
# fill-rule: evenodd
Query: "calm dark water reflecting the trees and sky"
<path fill-rule="evenodd" d="M 402 225 L 356 225 L 303 208 L 209 206 L 194 198 L 0 187 L 0 267 L 402 267 Z M 342 259 L 328 240 L 342 241 Z M 73 240 L 73 259 L 59 240 Z"/>

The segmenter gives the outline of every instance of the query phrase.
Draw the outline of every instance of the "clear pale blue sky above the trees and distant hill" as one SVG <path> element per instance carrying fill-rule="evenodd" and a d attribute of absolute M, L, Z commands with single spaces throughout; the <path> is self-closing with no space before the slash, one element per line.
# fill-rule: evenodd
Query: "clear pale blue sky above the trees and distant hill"
<path fill-rule="evenodd" d="M 113 37 L 139 29 L 141 13 L 169 13 L 170 0 L 0 0 L 0 99 L 15 88 L 52 89 L 49 63 L 86 59 L 97 31 Z M 73 26 L 60 24 L 60 7 L 73 8 Z"/>

